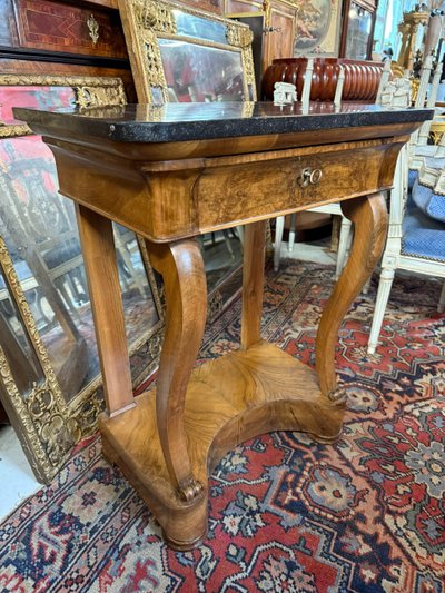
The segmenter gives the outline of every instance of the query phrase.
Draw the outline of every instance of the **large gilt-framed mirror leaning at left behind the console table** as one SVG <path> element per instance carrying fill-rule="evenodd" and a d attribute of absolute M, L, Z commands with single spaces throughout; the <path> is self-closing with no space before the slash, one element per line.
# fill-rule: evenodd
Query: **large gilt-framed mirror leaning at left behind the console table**
<path fill-rule="evenodd" d="M 0 399 L 43 482 L 96 431 L 101 377 L 75 207 L 58 194 L 52 152 L 12 106 L 125 102 L 120 79 L 0 76 Z M 116 225 L 115 243 L 139 385 L 157 363 L 162 309 L 142 241 Z"/>

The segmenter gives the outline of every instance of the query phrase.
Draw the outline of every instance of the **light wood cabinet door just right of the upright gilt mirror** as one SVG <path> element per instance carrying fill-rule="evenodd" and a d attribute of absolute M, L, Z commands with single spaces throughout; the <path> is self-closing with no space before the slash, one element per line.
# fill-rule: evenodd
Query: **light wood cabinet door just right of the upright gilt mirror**
<path fill-rule="evenodd" d="M 280 2 L 271 2 L 270 31 L 266 33 L 263 71 L 276 58 L 291 58 L 294 56 L 295 17 L 295 9 Z"/>

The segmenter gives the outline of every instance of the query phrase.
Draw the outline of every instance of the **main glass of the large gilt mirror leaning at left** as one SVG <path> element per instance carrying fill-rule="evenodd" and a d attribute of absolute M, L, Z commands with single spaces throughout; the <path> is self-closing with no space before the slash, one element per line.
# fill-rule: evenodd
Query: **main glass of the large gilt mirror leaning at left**
<path fill-rule="evenodd" d="M 58 194 L 53 157 L 40 137 L 1 140 L 0 161 L 0 235 L 70 402 L 99 375 L 75 207 Z M 115 237 L 131 348 L 159 316 L 135 234 L 115 226 Z"/>

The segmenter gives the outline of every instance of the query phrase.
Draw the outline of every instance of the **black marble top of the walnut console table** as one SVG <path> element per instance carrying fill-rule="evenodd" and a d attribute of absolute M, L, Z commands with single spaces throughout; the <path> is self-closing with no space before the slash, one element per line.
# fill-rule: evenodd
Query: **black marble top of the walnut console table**
<path fill-rule="evenodd" d="M 340 109 L 312 102 L 307 113 L 301 103 L 273 102 L 127 105 L 97 108 L 39 110 L 14 108 L 14 117 L 38 132 L 70 131 L 118 142 L 175 142 L 241 136 L 264 136 L 362 126 L 390 126 L 433 119 L 433 109 L 393 109 L 346 102 Z"/>

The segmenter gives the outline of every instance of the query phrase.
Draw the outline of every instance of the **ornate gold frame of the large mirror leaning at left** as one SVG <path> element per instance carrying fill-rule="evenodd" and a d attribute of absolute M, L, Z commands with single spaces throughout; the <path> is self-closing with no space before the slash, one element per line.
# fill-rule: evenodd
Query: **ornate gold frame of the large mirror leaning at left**
<path fill-rule="evenodd" d="M 126 103 L 123 85 L 119 78 L 0 75 L 0 86 L 71 87 L 76 93 L 76 101 L 82 107 Z M 31 134 L 31 130 L 26 125 L 0 122 L 0 139 L 28 134 Z M 138 243 L 141 247 L 142 241 Z M 145 248 L 141 248 L 140 251 L 159 322 L 131 344 L 129 349 L 130 354 L 135 354 L 146 345 L 146 349 L 152 358 L 150 366 L 155 367 L 161 339 L 160 329 L 164 315 L 147 251 Z M 36 477 L 41 482 L 49 482 L 60 470 L 72 446 L 80 438 L 89 436 L 96 431 L 96 419 L 103 406 L 98 391 L 102 380 L 99 375 L 69 403 L 66 402 L 23 295 L 12 259 L 1 236 L 0 268 L 44 377 L 43 382 L 40 385 L 34 384 L 27 398 L 23 398 L 14 382 L 4 350 L 0 346 L 0 398 L 21 441 Z M 144 374 L 148 372 L 149 368 L 147 367 Z M 136 383 L 140 378 L 137 377 Z"/>

